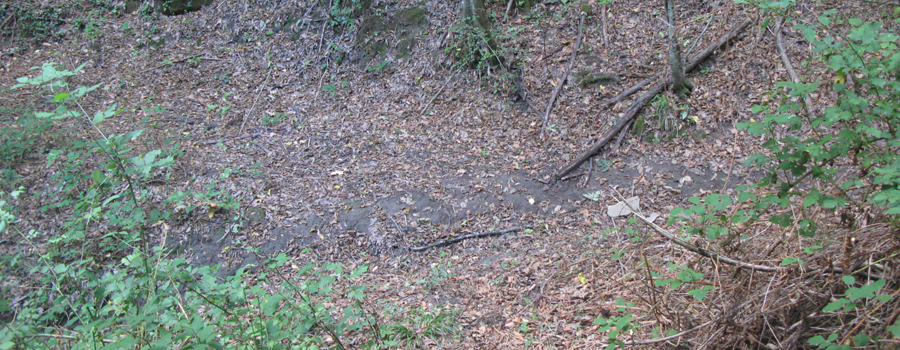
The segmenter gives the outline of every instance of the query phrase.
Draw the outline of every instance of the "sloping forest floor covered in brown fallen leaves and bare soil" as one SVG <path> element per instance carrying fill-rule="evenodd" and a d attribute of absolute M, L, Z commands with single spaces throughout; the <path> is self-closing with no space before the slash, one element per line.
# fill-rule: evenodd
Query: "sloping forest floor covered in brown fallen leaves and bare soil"
<path fill-rule="evenodd" d="M 151 197 L 162 203 L 175 191 L 215 188 L 239 202 L 222 208 L 229 203 L 224 196 L 209 210 L 182 212 L 165 233 L 168 244 L 194 264 L 223 264 L 223 274 L 258 263 L 246 246 L 297 262 L 368 264 L 359 283 L 371 286 L 373 305 L 455 310 L 459 333 L 428 339 L 424 347 L 596 349 L 607 336 L 593 321 L 623 313 L 643 315 L 624 341 L 713 321 L 647 346 L 756 348 L 791 340 L 774 330 L 789 327 L 788 319 L 772 320 L 778 325 L 771 329 L 759 322 L 753 325 L 760 328 L 729 327 L 721 319 L 735 308 L 786 307 L 760 301 L 765 283 L 743 284 L 738 269 L 704 262 L 629 217 L 607 214 L 620 196 L 636 196 L 662 225 L 692 196 L 731 194 L 755 180 L 743 164 L 762 151 L 761 140 L 737 123 L 759 118 L 751 107 L 769 102 L 767 91 L 789 80 L 775 20 L 760 26 L 774 17 L 730 1 L 679 2 L 687 57 L 741 21 L 753 22 L 688 74 L 696 86 L 689 97 L 663 93 L 644 107 L 643 127 L 630 128 L 557 182 L 553 175 L 641 92 L 607 108 L 599 104 L 666 68 L 665 11 L 633 0 L 551 1 L 508 13 L 506 3 L 487 6 L 508 63 L 520 70 L 518 84 L 502 67 L 456 66 L 449 52 L 462 40 L 454 32 L 457 3 L 437 0 L 375 0 L 347 24 L 333 24 L 320 2 L 215 1 L 178 16 L 101 9 L 103 19 L 88 22 L 89 30 L 75 19 L 96 13 L 61 5 L 68 20 L 52 39 L 27 47 L 5 42 L 0 84 L 34 75 L 29 69 L 44 62 L 85 64 L 73 80 L 101 84 L 87 106 L 118 103 L 123 110 L 103 132 L 139 128 L 145 136 L 138 148 L 177 144 L 183 151 L 166 180 L 151 185 Z M 880 11 L 867 2 L 798 1 L 793 23 L 813 23 L 828 8 L 873 18 Z M 575 48 L 584 9 L 590 12 Z M 799 30 L 781 30 L 804 80 L 834 78 L 811 60 Z M 574 69 L 563 80 L 573 50 Z M 576 81 L 597 73 L 614 79 Z M 564 88 L 542 130 L 559 84 Z M 812 97 L 820 109 L 833 100 L 828 93 Z M 70 138 L 91 132 L 67 123 Z M 49 148 L 53 140 L 44 142 Z M 53 230 L 59 217 L 40 210 L 53 199 L 44 163 L 35 156 L 18 165 L 21 184 L 37 193 L 19 204 L 20 217 Z M 510 228 L 519 230 L 410 250 Z M 730 247 L 731 256 L 775 266 L 796 248 L 776 242 L 799 240 L 790 231 L 753 230 Z M 701 301 L 689 288 L 653 285 L 649 270 L 672 278 L 679 273 L 672 263 L 707 274 L 715 296 Z M 744 282 L 733 284 L 738 280 Z"/>

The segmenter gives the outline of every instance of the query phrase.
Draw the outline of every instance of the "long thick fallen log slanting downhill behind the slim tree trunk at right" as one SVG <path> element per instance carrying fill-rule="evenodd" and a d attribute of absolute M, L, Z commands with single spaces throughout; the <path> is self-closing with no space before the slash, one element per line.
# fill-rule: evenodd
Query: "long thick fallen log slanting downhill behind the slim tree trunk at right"
<path fill-rule="evenodd" d="M 751 22 L 752 21 L 749 19 L 744 20 L 743 22 L 741 22 L 741 24 L 728 32 L 728 34 L 704 49 L 703 52 L 698 53 L 697 56 L 694 56 L 694 59 L 692 59 L 691 62 L 687 64 L 687 67 L 685 67 L 685 71 L 690 71 L 696 68 L 700 64 L 700 62 L 702 62 L 704 59 L 706 59 L 706 57 L 709 57 L 709 55 L 715 52 L 719 46 L 722 46 L 730 41 L 738 33 L 747 28 L 747 26 L 749 26 Z M 663 89 L 665 89 L 665 87 L 670 84 L 670 80 L 671 79 L 666 79 L 665 81 L 656 83 L 656 85 L 653 85 L 653 87 L 651 87 L 650 90 L 647 91 L 647 93 L 638 98 L 638 100 L 628 108 L 628 111 L 625 112 L 625 115 L 622 118 L 619 118 L 619 120 L 616 121 L 613 127 L 609 129 L 606 134 L 603 134 L 603 138 L 600 139 L 600 141 L 592 145 L 591 148 L 589 148 L 587 151 L 584 151 L 584 153 L 579 155 L 578 158 L 575 158 L 575 160 L 570 162 L 569 165 L 566 165 L 559 172 L 557 172 L 554 176 L 554 181 L 558 181 L 572 170 L 578 168 L 578 166 L 580 166 L 581 163 L 584 163 L 584 161 L 588 160 L 588 158 L 597 154 L 597 152 L 600 152 L 600 150 L 603 149 L 603 147 L 606 146 L 606 144 L 609 143 L 609 141 L 612 140 L 612 138 L 616 136 L 619 131 L 622 131 L 622 129 L 626 124 L 628 124 L 628 122 L 630 122 L 637 116 L 637 113 L 641 110 L 641 108 L 644 107 L 645 104 L 647 104 L 647 102 L 650 101 L 650 99 L 653 98 L 653 96 L 656 96 L 656 94 L 662 92 Z"/>

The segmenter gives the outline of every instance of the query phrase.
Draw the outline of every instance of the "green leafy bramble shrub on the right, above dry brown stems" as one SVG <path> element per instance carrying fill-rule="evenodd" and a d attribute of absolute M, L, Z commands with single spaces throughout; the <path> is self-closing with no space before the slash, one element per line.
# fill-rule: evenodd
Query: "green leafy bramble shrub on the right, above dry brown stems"
<path fill-rule="evenodd" d="M 823 94 L 833 92 L 835 104 L 820 115 L 810 115 L 804 98 L 822 89 L 824 82 L 778 83 L 787 91 L 770 92 L 776 103 L 753 106 L 753 113 L 762 113 L 762 119 L 738 124 L 764 140 L 767 154 L 754 154 L 745 162 L 762 169 L 763 177 L 752 187 L 737 188 L 735 198 L 693 197 L 693 206 L 672 210 L 670 224 L 693 222 L 683 227 L 683 234 L 726 243 L 747 227 L 744 223 L 765 217 L 802 236 L 815 237 L 819 234 L 816 218 L 808 213 L 816 208 L 850 213 L 873 209 L 880 220 L 900 226 L 900 36 L 880 22 L 828 17 L 834 13 L 819 17 L 821 27 L 795 28 L 803 31 L 816 58 L 832 72 L 831 91 Z M 844 25 L 849 30 L 840 34 L 838 26 Z M 805 251 L 812 254 L 821 248 L 816 245 Z M 796 257 L 782 261 L 782 265 L 794 263 L 803 262 Z M 845 297 L 828 304 L 823 312 L 849 312 L 857 302 L 872 310 L 890 299 L 876 293 L 884 280 L 857 284 L 848 275 L 843 281 L 848 287 Z M 897 324 L 884 326 L 884 331 L 900 335 Z M 864 345 L 875 336 L 856 334 L 852 341 Z M 815 336 L 808 343 L 823 349 L 850 349 L 847 339 L 837 341 L 839 337 Z"/>

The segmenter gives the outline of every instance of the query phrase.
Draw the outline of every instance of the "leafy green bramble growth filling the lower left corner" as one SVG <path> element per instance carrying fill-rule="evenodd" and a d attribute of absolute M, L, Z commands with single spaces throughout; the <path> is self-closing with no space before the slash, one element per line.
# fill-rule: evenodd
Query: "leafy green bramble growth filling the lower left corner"
<path fill-rule="evenodd" d="M 53 96 L 52 112 L 35 112 L 34 118 L 84 122 L 93 137 L 77 135 L 47 154 L 58 190 L 44 194 L 55 202 L 45 210 L 64 218 L 60 227 L 20 230 L 15 206 L 22 189 L 0 194 L 0 235 L 29 246 L 0 258 L 0 279 L 34 281 L 15 306 L 5 293 L 0 297 L 0 348 L 316 349 L 345 348 L 349 336 L 354 347 L 396 346 L 386 340 L 392 325 L 377 322 L 378 314 L 364 307 L 366 287 L 354 282 L 366 265 L 349 271 L 328 262 L 298 267 L 284 254 L 266 257 L 248 248 L 261 257 L 260 273 L 240 268 L 217 277 L 217 267 L 173 257 L 165 232 L 162 241 L 152 240 L 155 224 L 173 211 L 167 209 L 172 203 L 151 202 L 146 184 L 168 174 L 164 170 L 178 146 L 138 152 L 129 144 L 141 130 L 103 132 L 103 121 L 121 111 L 113 104 L 93 116 L 84 112 L 80 100 L 98 86 L 70 87 L 66 78 L 80 68 L 59 70 L 47 63 L 38 76 L 19 78 L 15 86 Z M 224 170 L 223 179 L 232 173 Z M 188 195 L 226 198 L 228 205 L 229 195 L 212 187 L 173 197 Z M 284 275 L 286 270 L 297 278 Z M 455 327 L 444 312 L 415 317 L 425 326 L 422 336 L 449 334 Z"/>

